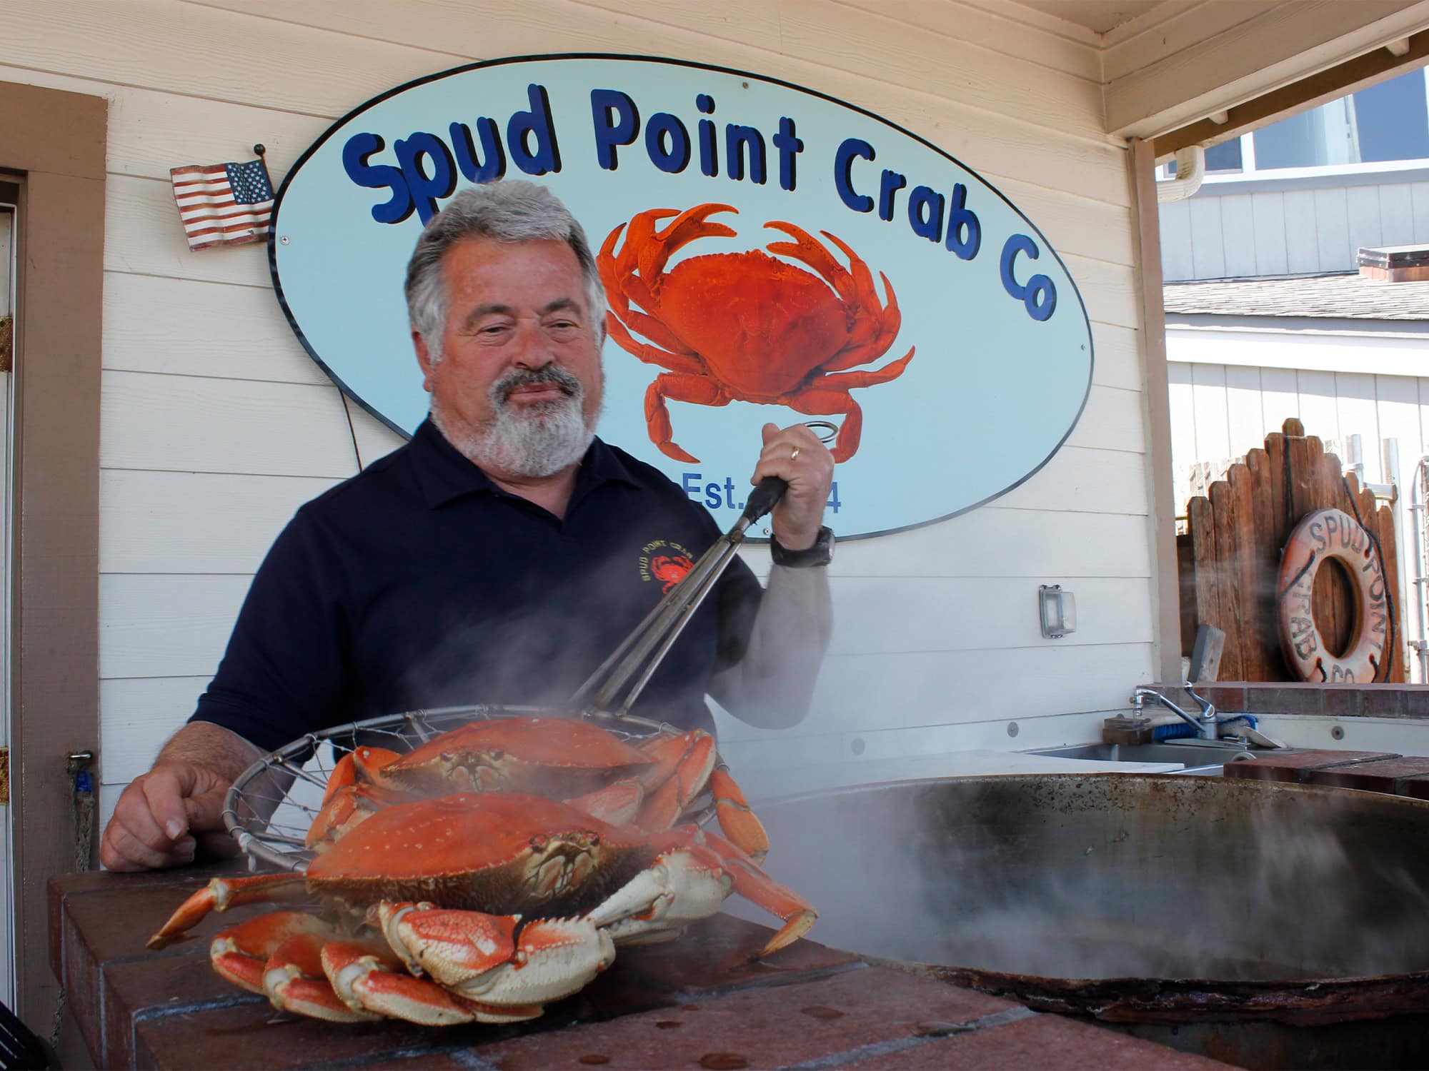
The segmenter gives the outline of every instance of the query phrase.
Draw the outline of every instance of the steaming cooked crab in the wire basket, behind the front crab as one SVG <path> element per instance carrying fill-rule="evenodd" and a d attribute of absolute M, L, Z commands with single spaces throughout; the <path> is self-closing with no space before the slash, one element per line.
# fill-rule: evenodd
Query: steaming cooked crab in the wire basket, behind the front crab
<path fill-rule="evenodd" d="M 709 733 L 663 733 L 632 745 L 590 721 L 556 717 L 473 721 L 404 755 L 359 747 L 327 781 L 307 847 L 327 845 L 377 810 L 450 793 L 530 793 L 617 825 L 674 825 L 707 788 L 725 835 L 756 863 L 769 837 L 743 793 L 716 768 Z"/>

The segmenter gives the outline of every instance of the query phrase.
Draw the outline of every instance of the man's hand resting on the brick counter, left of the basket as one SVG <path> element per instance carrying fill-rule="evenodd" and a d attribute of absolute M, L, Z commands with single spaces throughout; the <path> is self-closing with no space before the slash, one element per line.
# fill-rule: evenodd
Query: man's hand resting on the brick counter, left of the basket
<path fill-rule="evenodd" d="M 119 797 L 99 860 L 110 870 L 157 870 L 193 863 L 199 841 L 209 854 L 231 855 L 223 831 L 229 781 L 197 763 L 160 763 Z M 214 835 L 217 834 L 217 835 Z"/>

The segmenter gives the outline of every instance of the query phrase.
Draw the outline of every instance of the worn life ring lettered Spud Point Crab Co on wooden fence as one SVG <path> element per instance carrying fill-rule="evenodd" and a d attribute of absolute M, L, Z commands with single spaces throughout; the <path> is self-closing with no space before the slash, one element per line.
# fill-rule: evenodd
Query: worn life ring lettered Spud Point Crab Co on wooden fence
<path fill-rule="evenodd" d="M 1353 643 L 1339 657 L 1326 647 L 1310 608 L 1315 574 L 1329 558 L 1345 567 L 1355 591 Z M 1280 650 L 1302 681 L 1368 684 L 1379 675 L 1385 664 L 1389 598 L 1379 548 L 1359 521 L 1343 510 L 1305 514 L 1280 554 L 1278 591 Z"/>

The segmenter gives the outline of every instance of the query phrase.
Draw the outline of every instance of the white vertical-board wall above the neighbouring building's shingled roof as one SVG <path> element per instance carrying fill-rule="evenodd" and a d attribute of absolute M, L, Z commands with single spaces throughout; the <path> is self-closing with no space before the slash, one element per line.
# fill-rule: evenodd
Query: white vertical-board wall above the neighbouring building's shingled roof
<path fill-rule="evenodd" d="M 1360 247 L 1429 243 L 1429 171 L 1208 184 L 1160 206 L 1160 237 L 1167 283 L 1355 271 Z"/>

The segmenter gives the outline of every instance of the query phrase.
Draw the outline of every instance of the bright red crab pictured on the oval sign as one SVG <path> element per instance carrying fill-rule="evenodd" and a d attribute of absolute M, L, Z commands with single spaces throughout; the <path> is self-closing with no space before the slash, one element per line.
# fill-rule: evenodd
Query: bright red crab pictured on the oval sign
<path fill-rule="evenodd" d="M 642 361 L 669 370 L 644 393 L 650 441 L 677 461 L 699 461 L 673 441 L 666 400 L 753 401 L 812 416 L 845 414 L 833 460 L 849 460 L 863 430 L 863 410 L 849 391 L 897 378 L 913 358 L 910 348 L 882 368 L 847 371 L 876 361 L 897 337 L 903 317 L 887 276 L 879 273 L 887 294 L 883 304 L 869 266 L 849 246 L 822 231 L 849 258 L 843 267 L 812 234 L 780 220 L 765 226 L 793 241 L 765 248 L 812 273 L 757 248 L 687 257 L 666 271 L 669 258 L 696 238 L 735 237 L 733 228 L 709 221 L 722 211 L 739 210 L 699 204 L 684 213 L 642 211 L 610 231 L 596 258 L 610 300 L 610 337 Z M 676 218 L 657 230 L 670 216 Z M 616 253 L 622 230 L 624 244 Z M 637 341 L 632 331 L 649 341 Z"/>

